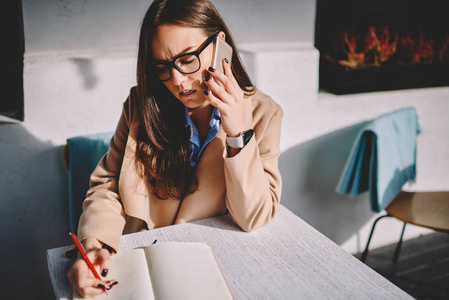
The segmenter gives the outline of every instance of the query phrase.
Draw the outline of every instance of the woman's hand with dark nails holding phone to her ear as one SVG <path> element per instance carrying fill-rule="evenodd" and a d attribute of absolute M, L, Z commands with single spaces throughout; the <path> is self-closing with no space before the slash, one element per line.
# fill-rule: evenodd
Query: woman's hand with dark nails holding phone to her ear
<path fill-rule="evenodd" d="M 239 136 L 251 128 L 251 111 L 245 105 L 245 95 L 235 80 L 231 66 L 223 60 L 224 74 L 209 68 L 209 80 L 205 81 L 210 89 L 207 101 L 220 110 L 221 124 L 230 137 Z"/>

